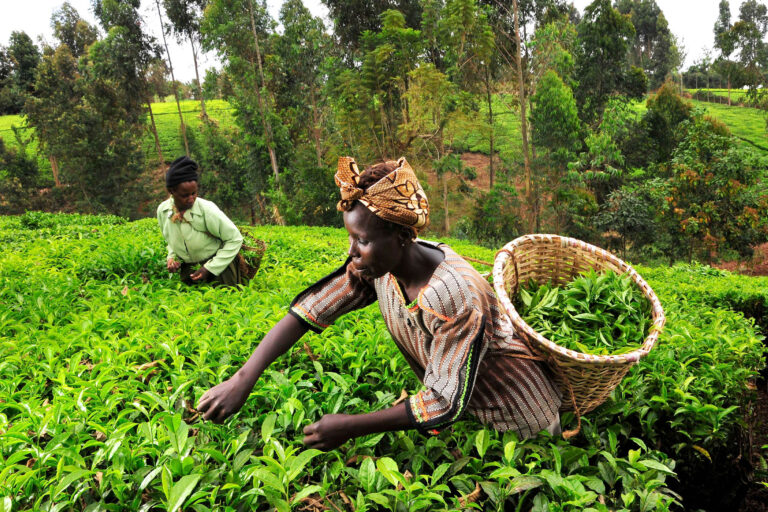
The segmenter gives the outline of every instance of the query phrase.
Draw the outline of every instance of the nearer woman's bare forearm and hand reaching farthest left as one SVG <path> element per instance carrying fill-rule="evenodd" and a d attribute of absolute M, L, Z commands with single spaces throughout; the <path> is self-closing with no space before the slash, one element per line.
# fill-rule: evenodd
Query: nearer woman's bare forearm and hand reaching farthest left
<path fill-rule="evenodd" d="M 232 377 L 203 394 L 197 405 L 203 418 L 221 423 L 239 411 L 264 370 L 306 332 L 305 324 L 293 315 L 285 315 L 269 330 L 248 361 Z"/>

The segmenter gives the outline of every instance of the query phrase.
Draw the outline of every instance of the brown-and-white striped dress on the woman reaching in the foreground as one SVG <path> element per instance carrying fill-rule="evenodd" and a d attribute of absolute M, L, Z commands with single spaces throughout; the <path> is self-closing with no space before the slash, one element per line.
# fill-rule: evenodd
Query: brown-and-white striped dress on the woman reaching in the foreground
<path fill-rule="evenodd" d="M 406 401 L 422 433 L 438 433 L 465 411 L 523 438 L 559 427 L 560 391 L 541 363 L 514 357 L 531 352 L 514 337 L 491 285 L 447 245 L 419 243 L 440 249 L 445 259 L 411 304 L 394 276 L 359 279 L 347 271 L 347 260 L 301 292 L 291 314 L 322 332 L 378 300 L 392 338 L 424 384 Z"/>

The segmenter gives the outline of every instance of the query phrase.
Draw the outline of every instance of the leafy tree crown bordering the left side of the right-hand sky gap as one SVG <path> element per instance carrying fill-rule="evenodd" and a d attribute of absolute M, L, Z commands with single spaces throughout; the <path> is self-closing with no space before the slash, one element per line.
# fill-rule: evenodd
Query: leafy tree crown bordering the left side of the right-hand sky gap
<path fill-rule="evenodd" d="M 682 60 L 664 13 L 656 0 L 617 0 L 615 6 L 630 15 L 635 27 L 630 64 L 642 69 L 651 89 L 656 89 Z"/>

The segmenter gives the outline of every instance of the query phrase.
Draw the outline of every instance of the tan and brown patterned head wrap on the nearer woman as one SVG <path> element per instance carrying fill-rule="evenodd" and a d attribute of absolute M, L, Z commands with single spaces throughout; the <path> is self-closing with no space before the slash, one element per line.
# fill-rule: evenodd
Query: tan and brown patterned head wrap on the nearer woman
<path fill-rule="evenodd" d="M 410 227 L 417 234 L 429 224 L 427 196 L 404 157 L 397 161 L 397 169 L 367 190 L 358 186 L 360 171 L 354 158 L 339 158 L 334 178 L 341 189 L 341 201 L 336 205 L 339 211 L 348 212 L 355 201 L 360 201 L 380 219 Z"/>

